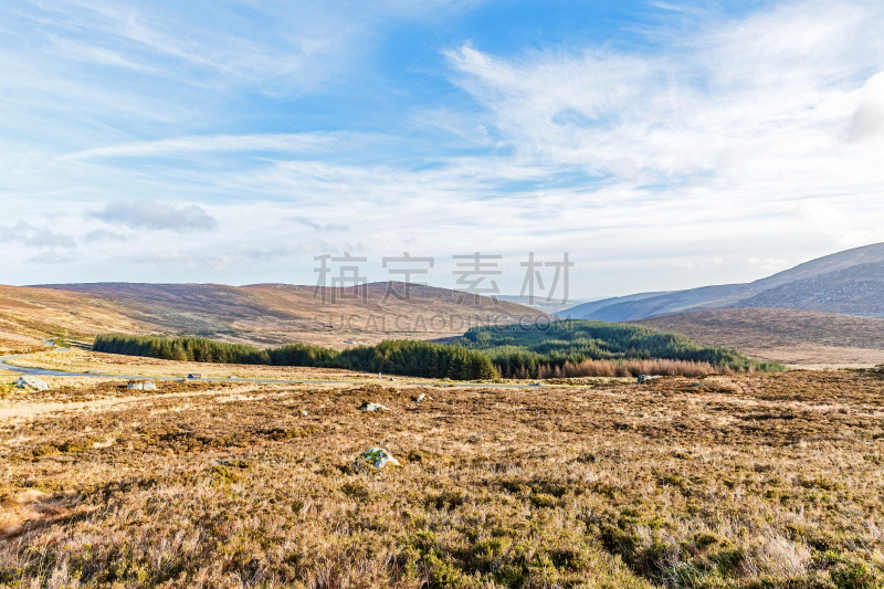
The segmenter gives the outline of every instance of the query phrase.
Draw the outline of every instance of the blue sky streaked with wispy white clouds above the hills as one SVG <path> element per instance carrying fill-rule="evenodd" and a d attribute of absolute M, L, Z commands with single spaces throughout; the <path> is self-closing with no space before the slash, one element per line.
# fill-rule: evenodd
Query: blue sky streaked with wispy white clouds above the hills
<path fill-rule="evenodd" d="M 4 2 L 0 282 L 757 280 L 884 242 L 882 30 L 880 1 Z"/>

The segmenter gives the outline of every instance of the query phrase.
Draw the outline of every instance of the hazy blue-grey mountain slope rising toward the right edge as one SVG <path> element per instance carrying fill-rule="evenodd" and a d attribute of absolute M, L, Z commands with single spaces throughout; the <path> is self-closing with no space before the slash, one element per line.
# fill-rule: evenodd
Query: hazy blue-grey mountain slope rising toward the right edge
<path fill-rule="evenodd" d="M 884 317 L 884 243 L 846 250 L 748 284 L 606 298 L 559 317 L 628 322 L 676 313 L 774 307 Z"/>

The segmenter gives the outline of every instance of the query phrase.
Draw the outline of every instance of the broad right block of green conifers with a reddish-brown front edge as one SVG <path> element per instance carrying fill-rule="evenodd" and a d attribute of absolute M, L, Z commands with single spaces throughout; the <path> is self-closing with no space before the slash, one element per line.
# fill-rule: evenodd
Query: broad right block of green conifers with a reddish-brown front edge
<path fill-rule="evenodd" d="M 603 322 L 473 327 L 455 345 L 484 353 L 507 378 L 628 376 L 638 370 L 664 376 L 702 376 L 716 371 L 783 369 L 778 362 L 751 360 L 733 349 L 701 346 L 681 334 Z"/>

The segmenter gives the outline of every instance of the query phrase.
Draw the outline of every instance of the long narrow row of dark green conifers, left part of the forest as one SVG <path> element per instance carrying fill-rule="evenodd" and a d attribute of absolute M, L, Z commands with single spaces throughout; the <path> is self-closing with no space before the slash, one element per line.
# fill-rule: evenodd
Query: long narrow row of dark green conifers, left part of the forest
<path fill-rule="evenodd" d="M 198 337 L 102 335 L 95 339 L 93 349 L 166 360 L 344 368 L 454 380 L 497 377 L 494 365 L 480 351 L 410 339 L 385 340 L 377 346 L 338 351 L 305 344 L 257 349 Z"/>

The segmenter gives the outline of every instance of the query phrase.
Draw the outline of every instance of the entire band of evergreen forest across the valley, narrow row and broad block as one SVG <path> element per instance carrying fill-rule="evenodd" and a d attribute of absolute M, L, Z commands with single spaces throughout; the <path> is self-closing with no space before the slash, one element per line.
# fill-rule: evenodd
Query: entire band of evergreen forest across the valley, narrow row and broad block
<path fill-rule="evenodd" d="M 570 319 L 544 327 L 473 327 L 450 345 L 394 339 L 343 351 L 306 344 L 259 349 L 199 337 L 103 335 L 94 349 L 167 360 L 343 368 L 453 380 L 783 369 L 779 362 L 753 360 L 734 349 L 701 346 L 682 334 Z"/>

